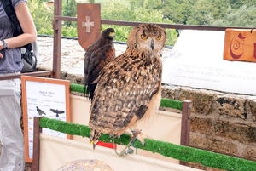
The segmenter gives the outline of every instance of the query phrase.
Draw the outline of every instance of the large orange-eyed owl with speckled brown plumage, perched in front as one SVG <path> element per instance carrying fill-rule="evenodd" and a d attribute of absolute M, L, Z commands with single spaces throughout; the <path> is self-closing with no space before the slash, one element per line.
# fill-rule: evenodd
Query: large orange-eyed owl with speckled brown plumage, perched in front
<path fill-rule="evenodd" d="M 160 106 L 162 50 L 166 31 L 153 24 L 135 26 L 124 54 L 100 72 L 90 106 L 90 142 L 101 134 L 119 137 L 131 131 L 144 144 L 137 122 L 150 117 Z"/>

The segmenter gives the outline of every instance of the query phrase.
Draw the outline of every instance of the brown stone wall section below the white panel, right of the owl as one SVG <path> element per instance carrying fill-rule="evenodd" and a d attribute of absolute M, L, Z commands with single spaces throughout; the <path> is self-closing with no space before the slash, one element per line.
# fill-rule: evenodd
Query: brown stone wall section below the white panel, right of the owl
<path fill-rule="evenodd" d="M 256 96 L 163 86 L 162 97 L 192 100 L 191 146 L 256 161 Z"/>

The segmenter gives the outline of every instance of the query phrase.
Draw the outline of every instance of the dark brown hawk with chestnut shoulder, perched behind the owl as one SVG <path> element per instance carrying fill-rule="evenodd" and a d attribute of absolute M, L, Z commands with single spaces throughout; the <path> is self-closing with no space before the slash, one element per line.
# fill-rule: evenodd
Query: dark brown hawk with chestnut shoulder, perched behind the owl
<path fill-rule="evenodd" d="M 113 28 L 102 31 L 101 37 L 92 43 L 84 54 L 84 87 L 87 86 L 91 100 L 96 88 L 96 83 L 93 82 L 102 68 L 115 58 L 114 37 Z"/>

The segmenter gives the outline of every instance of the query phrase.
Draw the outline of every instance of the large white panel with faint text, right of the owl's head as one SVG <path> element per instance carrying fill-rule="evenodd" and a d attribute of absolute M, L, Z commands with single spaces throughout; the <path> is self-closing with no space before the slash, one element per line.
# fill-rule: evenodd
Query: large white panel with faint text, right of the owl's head
<path fill-rule="evenodd" d="M 163 83 L 256 95 L 256 64 L 223 60 L 224 31 L 181 32 L 163 60 Z"/>

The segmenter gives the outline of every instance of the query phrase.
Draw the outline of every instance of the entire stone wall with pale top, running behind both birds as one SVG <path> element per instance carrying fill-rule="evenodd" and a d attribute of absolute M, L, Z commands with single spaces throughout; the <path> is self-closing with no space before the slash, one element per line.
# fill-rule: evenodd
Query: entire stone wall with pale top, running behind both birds
<path fill-rule="evenodd" d="M 52 68 L 52 45 L 52 38 L 38 37 L 38 70 Z M 126 45 L 115 44 L 115 48 L 119 55 Z M 61 79 L 83 84 L 84 49 L 76 40 L 64 39 L 61 51 Z M 191 146 L 256 161 L 256 96 L 163 85 L 162 97 L 192 100 Z"/>

